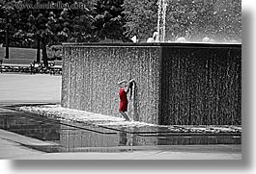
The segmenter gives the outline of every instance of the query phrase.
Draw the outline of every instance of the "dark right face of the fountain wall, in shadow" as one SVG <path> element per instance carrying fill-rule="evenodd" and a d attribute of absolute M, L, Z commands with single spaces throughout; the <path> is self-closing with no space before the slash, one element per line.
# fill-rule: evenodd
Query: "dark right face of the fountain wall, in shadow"
<path fill-rule="evenodd" d="M 162 124 L 242 124 L 241 45 L 162 48 Z"/>

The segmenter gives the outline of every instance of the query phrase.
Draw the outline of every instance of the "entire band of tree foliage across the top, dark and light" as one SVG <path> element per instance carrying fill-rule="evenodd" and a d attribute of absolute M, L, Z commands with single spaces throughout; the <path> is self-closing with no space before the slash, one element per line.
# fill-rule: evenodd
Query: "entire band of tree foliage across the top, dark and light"
<path fill-rule="evenodd" d="M 92 42 L 106 38 L 141 41 L 152 37 L 157 26 L 157 0 L 61 0 L 62 9 L 18 9 L 16 5 L 39 0 L 0 0 L 0 42 L 9 22 L 11 44 L 52 45 L 60 42 Z M 56 3 L 59 0 L 52 0 Z M 241 0 L 167 0 L 166 37 L 197 41 L 242 39 Z M 41 3 L 48 3 L 41 0 Z M 84 8 L 72 9 L 82 3 Z M 44 48 L 43 48 L 44 49 Z"/>

